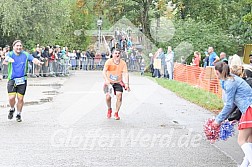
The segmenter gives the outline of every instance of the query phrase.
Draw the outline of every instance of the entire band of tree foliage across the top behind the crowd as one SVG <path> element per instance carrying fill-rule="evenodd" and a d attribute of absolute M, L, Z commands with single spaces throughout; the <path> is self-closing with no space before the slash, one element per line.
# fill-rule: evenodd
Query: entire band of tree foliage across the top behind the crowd
<path fill-rule="evenodd" d="M 167 17 L 176 27 L 169 43 L 189 40 L 195 50 L 212 45 L 233 52 L 252 42 L 252 0 L 1 0 L 0 45 L 19 38 L 30 46 L 85 48 L 91 42 L 85 32 L 97 29 L 99 17 L 104 29 L 126 17 L 152 41 L 151 21 L 158 26 Z"/>

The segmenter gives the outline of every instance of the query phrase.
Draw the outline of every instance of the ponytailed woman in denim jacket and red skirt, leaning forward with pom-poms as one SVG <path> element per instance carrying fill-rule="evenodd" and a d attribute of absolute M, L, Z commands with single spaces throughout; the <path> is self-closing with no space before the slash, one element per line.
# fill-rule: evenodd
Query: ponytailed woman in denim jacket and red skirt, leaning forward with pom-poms
<path fill-rule="evenodd" d="M 236 104 L 242 112 L 238 125 L 238 143 L 245 154 L 244 161 L 252 164 L 252 143 L 250 141 L 252 138 L 252 89 L 242 78 L 232 75 L 226 63 L 216 63 L 215 70 L 218 78 L 223 81 L 226 103 L 215 118 L 213 125 L 219 126 L 230 115 Z"/>

